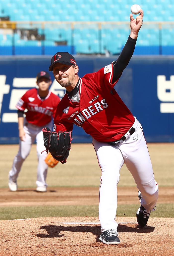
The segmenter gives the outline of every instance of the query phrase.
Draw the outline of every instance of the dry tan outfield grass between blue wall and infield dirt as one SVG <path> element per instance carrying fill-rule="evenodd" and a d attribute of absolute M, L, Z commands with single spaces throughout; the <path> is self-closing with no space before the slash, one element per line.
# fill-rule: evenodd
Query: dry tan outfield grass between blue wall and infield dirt
<path fill-rule="evenodd" d="M 0 187 L 8 187 L 8 173 L 18 145 L 0 145 Z M 174 184 L 174 143 L 148 143 L 155 179 L 159 186 Z M 9 154 L 10 152 L 10 154 Z M 95 150 L 91 143 L 72 144 L 72 151 L 66 164 L 58 164 L 48 169 L 49 187 L 59 186 L 99 186 L 101 169 Z M 35 187 L 37 178 L 36 145 L 32 146 L 30 155 L 24 161 L 18 177 L 18 187 Z M 134 186 L 135 181 L 124 164 L 120 171 L 118 186 Z"/>

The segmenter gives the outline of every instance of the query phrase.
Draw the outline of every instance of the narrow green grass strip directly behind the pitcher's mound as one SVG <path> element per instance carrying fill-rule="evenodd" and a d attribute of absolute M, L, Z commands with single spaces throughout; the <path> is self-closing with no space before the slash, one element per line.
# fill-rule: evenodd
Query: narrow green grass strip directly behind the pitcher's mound
<path fill-rule="evenodd" d="M 117 217 L 135 217 L 139 204 L 118 205 Z M 93 216 L 98 217 L 97 205 L 65 206 L 17 206 L 1 207 L 0 219 L 26 219 L 57 216 Z M 174 204 L 157 204 L 157 210 L 150 217 L 174 217 Z"/>

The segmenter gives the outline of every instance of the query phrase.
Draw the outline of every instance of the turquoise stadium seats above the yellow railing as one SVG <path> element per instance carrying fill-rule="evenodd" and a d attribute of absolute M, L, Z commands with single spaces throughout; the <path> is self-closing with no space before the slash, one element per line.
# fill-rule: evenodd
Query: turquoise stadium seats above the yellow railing
<path fill-rule="evenodd" d="M 39 0 L 0 0 L 1 13 L 10 16 L 11 20 L 129 20 L 130 6 L 133 1 L 39 1 Z M 157 2 L 157 3 L 156 3 Z M 174 16 L 174 3 L 172 1 L 144 1 L 144 20 L 172 21 Z M 153 4 L 153 9 L 151 6 Z M 22 16 L 22 17 L 21 17 Z M 37 16 L 37 18 L 35 18 Z"/>

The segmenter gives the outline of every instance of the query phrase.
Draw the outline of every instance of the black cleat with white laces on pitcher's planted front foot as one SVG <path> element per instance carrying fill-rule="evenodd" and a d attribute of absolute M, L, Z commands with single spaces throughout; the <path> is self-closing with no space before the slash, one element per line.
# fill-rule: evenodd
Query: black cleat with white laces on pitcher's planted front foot
<path fill-rule="evenodd" d="M 100 241 L 106 244 L 119 244 L 120 240 L 118 238 L 118 233 L 114 229 L 108 229 L 101 233 Z"/>

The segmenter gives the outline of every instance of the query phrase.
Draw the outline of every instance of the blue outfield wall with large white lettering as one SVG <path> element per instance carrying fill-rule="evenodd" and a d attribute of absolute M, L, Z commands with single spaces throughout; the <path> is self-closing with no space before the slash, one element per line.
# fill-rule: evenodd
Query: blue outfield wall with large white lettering
<path fill-rule="evenodd" d="M 37 72 L 48 70 L 51 57 L 0 57 L 1 144 L 18 143 L 15 104 L 35 86 Z M 98 71 L 117 57 L 75 56 L 79 76 Z M 52 72 L 50 75 L 50 89 L 63 97 L 65 90 L 54 80 Z M 115 89 L 141 122 L 147 142 L 174 142 L 174 56 L 133 56 Z M 91 136 L 74 125 L 73 142 L 91 142 Z"/>

